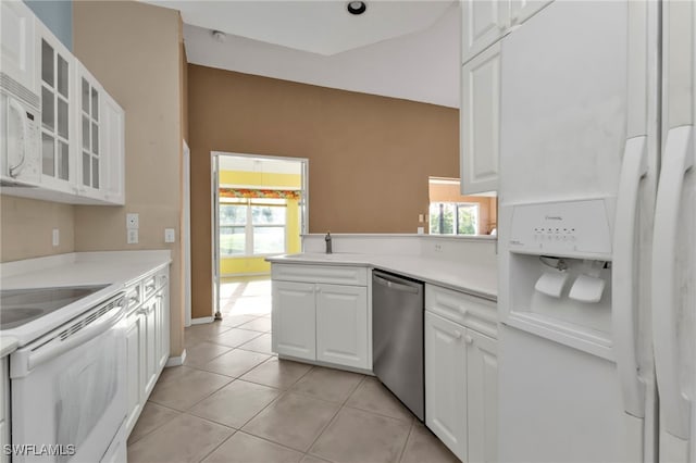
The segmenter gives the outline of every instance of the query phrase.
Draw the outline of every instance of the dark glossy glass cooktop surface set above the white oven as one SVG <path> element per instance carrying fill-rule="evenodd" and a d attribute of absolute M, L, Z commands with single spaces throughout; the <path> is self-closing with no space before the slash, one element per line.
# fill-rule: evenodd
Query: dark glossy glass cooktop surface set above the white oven
<path fill-rule="evenodd" d="M 72 304 L 109 285 L 0 290 L 0 329 L 11 329 Z"/>

